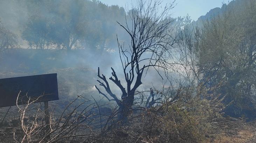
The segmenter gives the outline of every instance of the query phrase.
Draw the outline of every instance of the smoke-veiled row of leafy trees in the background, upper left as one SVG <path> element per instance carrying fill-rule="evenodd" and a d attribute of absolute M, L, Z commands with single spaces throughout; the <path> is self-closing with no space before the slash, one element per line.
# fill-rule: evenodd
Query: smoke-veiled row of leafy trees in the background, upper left
<path fill-rule="evenodd" d="M 116 20 L 125 14 L 122 7 L 96 0 L 33 1 L 28 7 L 22 38 L 36 49 L 110 46 L 116 39 Z"/>

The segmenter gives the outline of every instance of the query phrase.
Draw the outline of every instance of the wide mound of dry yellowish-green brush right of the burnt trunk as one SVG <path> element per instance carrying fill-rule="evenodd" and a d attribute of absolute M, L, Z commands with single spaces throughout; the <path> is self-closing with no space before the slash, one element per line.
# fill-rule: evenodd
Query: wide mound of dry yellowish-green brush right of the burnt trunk
<path fill-rule="evenodd" d="M 247 123 L 242 118 L 224 117 L 221 112 L 224 107 L 218 97 L 212 100 L 194 97 L 186 102 L 177 100 L 144 108 L 130 115 L 129 123 L 112 128 L 102 141 L 220 142 L 222 138 L 235 138 L 245 132 Z"/>

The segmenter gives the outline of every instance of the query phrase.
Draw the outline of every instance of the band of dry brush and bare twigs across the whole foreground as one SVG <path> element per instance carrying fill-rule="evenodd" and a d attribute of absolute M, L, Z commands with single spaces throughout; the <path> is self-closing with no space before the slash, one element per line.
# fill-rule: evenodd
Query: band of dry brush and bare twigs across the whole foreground
<path fill-rule="evenodd" d="M 157 91 L 154 92 L 157 94 Z M 1 142 L 256 141 L 255 123 L 245 122 L 243 118 L 225 116 L 220 112 L 225 106 L 218 98 L 202 100 L 196 96 L 184 101 L 190 97 L 190 90 L 174 93 L 179 94 L 179 100 L 173 102 L 162 99 L 159 105 L 155 104 L 151 108 L 138 108 L 137 102 L 134 104 L 136 110 L 129 113 L 127 122 L 117 119 L 117 108 L 106 111 L 104 105 L 83 96 L 77 96 L 66 105 L 51 105 L 49 126 L 45 124 L 42 104 L 31 102 L 28 105 L 19 105 L 18 110 L 17 107 L 12 107 L 10 111 L 18 111 L 19 118 L 7 118 L 1 124 Z M 198 93 L 207 95 L 205 91 Z M 138 101 L 141 99 L 139 95 Z M 47 127 L 50 128 L 48 132 Z"/>

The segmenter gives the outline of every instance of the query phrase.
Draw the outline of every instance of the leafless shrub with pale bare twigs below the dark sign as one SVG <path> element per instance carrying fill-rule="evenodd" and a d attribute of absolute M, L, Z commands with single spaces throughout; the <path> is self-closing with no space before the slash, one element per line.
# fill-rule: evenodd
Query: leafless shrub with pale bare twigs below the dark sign
<path fill-rule="evenodd" d="M 20 94 L 19 94 L 20 96 Z M 18 96 L 18 98 L 19 98 Z M 17 101 L 18 101 L 17 98 Z M 83 101 L 76 105 L 75 101 L 82 96 L 77 96 L 69 105 L 61 111 L 61 114 L 56 117 L 54 113 L 55 108 L 49 108 L 45 110 L 51 110 L 49 114 L 49 124 L 46 124 L 45 110 L 42 110 L 42 104 L 35 104 L 38 99 L 32 100 L 29 98 L 28 104 L 18 105 L 21 128 L 23 138 L 16 138 L 13 134 L 16 142 L 83 142 L 90 137 L 96 135 L 92 132 L 90 123 L 92 122 L 95 112 L 92 112 L 93 104 L 85 105 L 89 102 Z M 27 115 L 29 112 L 33 112 L 33 115 L 29 118 Z"/>

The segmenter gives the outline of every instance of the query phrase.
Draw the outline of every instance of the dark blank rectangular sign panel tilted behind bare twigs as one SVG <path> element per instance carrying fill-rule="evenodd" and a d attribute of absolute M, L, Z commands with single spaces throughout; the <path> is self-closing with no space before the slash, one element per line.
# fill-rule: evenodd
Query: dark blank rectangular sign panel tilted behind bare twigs
<path fill-rule="evenodd" d="M 21 92 L 20 92 L 21 91 Z M 0 107 L 58 100 L 57 74 L 44 74 L 0 79 Z"/>

